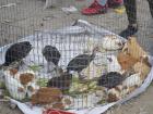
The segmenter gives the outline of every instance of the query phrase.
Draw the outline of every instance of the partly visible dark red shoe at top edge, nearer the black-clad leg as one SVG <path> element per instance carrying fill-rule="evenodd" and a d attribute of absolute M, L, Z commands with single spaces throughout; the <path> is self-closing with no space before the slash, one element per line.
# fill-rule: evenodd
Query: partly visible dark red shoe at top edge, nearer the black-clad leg
<path fill-rule="evenodd" d="M 123 5 L 123 0 L 108 0 L 108 8 L 116 9 Z"/>

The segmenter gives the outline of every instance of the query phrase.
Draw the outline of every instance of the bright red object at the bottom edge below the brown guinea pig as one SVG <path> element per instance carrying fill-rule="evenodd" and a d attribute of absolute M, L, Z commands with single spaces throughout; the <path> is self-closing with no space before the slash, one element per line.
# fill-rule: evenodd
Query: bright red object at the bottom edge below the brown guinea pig
<path fill-rule="evenodd" d="M 75 113 L 49 109 L 47 111 L 44 111 L 43 114 L 75 114 Z"/>

